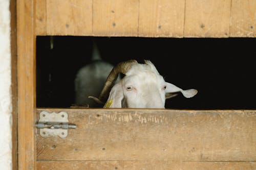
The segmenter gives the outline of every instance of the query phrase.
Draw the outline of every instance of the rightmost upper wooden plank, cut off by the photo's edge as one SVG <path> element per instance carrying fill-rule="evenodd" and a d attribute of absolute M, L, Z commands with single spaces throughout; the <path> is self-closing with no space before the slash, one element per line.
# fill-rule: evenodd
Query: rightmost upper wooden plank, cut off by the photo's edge
<path fill-rule="evenodd" d="M 233 0 L 231 7 L 230 37 L 255 37 L 256 1 Z"/>

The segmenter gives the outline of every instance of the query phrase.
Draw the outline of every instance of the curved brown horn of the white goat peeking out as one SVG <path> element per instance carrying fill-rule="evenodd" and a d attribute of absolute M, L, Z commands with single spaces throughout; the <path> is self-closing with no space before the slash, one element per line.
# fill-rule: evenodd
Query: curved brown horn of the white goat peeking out
<path fill-rule="evenodd" d="M 106 82 L 104 84 L 104 87 L 99 95 L 99 98 L 95 98 L 90 96 L 89 98 L 93 99 L 97 103 L 104 103 L 106 100 L 108 100 L 109 93 L 111 91 L 111 88 L 114 86 L 115 81 L 118 77 L 119 73 L 126 74 L 126 72 L 132 67 L 132 65 L 138 63 L 136 60 L 129 60 L 129 61 L 123 61 L 118 63 L 110 72 L 108 78 L 106 78 Z"/>

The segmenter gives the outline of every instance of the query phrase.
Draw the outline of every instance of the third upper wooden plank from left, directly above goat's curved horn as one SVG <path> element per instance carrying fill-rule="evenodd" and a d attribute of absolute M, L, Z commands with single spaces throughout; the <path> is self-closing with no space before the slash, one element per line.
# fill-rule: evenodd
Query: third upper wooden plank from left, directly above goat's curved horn
<path fill-rule="evenodd" d="M 138 36 L 139 0 L 94 0 L 95 36 Z"/>

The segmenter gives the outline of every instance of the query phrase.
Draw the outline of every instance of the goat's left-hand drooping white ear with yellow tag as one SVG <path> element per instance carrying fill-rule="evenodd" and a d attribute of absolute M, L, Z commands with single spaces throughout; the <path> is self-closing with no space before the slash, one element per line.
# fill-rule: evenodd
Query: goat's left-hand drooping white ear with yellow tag
<path fill-rule="evenodd" d="M 123 99 L 123 89 L 121 83 L 115 84 L 109 95 L 108 101 L 106 101 L 104 108 L 121 108 Z"/>

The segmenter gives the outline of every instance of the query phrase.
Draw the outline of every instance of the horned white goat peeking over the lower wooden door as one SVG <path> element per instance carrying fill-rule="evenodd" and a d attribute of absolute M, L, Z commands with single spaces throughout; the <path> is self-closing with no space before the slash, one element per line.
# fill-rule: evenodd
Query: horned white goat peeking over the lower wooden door
<path fill-rule="evenodd" d="M 172 98 L 177 92 L 185 98 L 197 94 L 196 89 L 183 90 L 165 82 L 151 61 L 144 62 L 139 64 L 136 60 L 129 60 L 119 63 L 106 79 L 99 98 L 89 98 L 105 103 L 104 108 L 165 108 L 165 99 Z M 125 77 L 115 84 L 119 73 Z"/>

